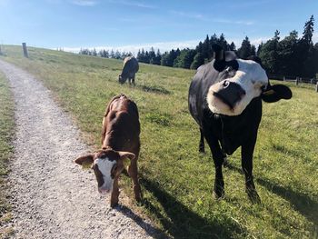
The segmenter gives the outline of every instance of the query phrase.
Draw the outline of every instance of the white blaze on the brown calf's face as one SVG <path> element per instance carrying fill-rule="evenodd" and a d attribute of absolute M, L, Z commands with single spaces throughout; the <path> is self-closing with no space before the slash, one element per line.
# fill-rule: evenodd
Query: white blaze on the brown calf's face
<path fill-rule="evenodd" d="M 114 179 L 111 176 L 111 171 L 116 164 L 116 161 L 109 160 L 108 157 L 95 159 L 94 164 L 97 164 L 99 171 L 103 174 L 104 184 L 98 188 L 101 194 L 109 193 L 113 190 Z"/>

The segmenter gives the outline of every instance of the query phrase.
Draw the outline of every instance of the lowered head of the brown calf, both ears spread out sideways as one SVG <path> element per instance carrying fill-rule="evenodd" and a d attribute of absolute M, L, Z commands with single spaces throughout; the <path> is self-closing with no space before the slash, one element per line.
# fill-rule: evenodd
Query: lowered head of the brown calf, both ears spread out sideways
<path fill-rule="evenodd" d="M 76 164 L 90 165 L 98 183 L 98 192 L 106 194 L 112 191 L 114 178 L 124 169 L 124 159 L 134 159 L 135 155 L 129 152 L 105 149 L 94 154 L 87 154 L 75 159 Z"/>

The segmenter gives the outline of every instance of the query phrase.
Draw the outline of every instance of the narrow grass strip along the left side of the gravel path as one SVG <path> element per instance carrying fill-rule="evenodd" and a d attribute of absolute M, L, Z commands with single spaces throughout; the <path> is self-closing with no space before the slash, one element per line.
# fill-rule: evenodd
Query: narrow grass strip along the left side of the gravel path
<path fill-rule="evenodd" d="M 7 200 L 6 177 L 8 159 L 13 153 L 11 140 L 14 134 L 14 102 L 5 75 L 0 72 L 0 227 L 10 221 L 10 204 Z M 0 230 L 0 238 L 11 234 L 11 228 Z"/>

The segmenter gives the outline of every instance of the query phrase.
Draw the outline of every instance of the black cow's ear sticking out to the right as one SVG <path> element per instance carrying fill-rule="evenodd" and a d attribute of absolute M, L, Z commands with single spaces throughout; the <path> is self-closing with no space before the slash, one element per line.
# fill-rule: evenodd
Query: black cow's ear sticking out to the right
<path fill-rule="evenodd" d="M 280 99 L 289 100 L 292 98 L 293 93 L 286 85 L 269 85 L 265 90 L 263 90 L 261 96 L 264 102 L 273 103 Z"/>

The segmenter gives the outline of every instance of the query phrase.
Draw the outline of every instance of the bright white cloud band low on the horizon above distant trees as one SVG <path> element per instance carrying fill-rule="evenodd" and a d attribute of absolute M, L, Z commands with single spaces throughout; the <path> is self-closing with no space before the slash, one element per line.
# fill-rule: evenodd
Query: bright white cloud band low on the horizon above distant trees
<path fill-rule="evenodd" d="M 100 50 L 114 50 L 119 52 L 131 52 L 134 55 L 138 53 L 138 50 L 141 50 L 144 48 L 144 51 L 149 51 L 151 47 L 154 47 L 154 50 L 157 49 L 160 50 L 161 53 L 164 53 L 165 51 L 170 51 L 172 49 L 184 49 L 184 48 L 194 48 L 196 45 L 198 45 L 200 40 L 189 40 L 184 42 L 159 42 L 159 43 L 148 43 L 148 44 L 140 44 L 140 45 L 122 45 L 122 46 L 83 46 L 83 47 L 62 47 L 62 49 L 65 52 L 73 52 L 78 53 L 81 48 L 83 49 L 95 49 L 97 52 Z"/>

